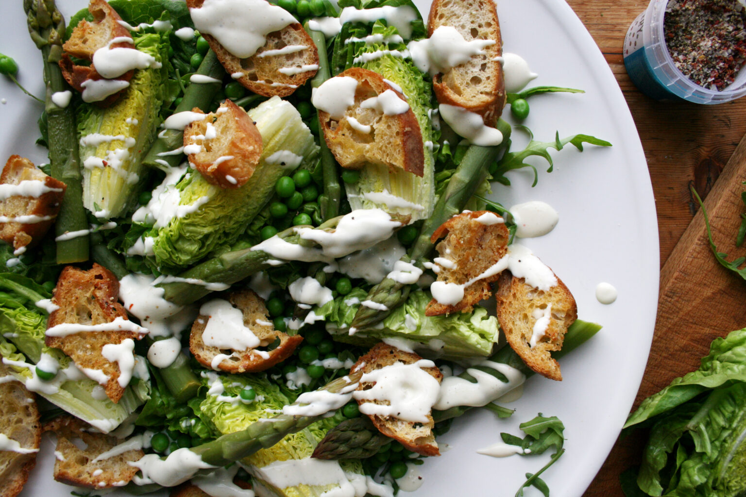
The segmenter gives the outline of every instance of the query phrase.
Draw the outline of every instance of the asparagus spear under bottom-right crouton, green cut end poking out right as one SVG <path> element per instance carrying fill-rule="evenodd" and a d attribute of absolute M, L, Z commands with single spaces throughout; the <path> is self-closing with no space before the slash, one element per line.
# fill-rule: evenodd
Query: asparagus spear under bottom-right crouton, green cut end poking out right
<path fill-rule="evenodd" d="M 555 359 L 562 357 L 563 355 L 577 349 L 578 346 L 588 341 L 593 335 L 601 329 L 596 323 L 588 323 L 582 320 L 576 320 L 572 326 L 568 329 L 565 334 L 565 341 L 562 345 L 562 350 L 554 352 L 552 357 Z M 495 352 L 489 361 L 497 362 L 500 364 L 507 364 L 510 367 L 521 371 L 527 378 L 533 376 L 534 372 L 526 366 L 524 361 L 516 354 L 510 346 L 504 346 L 502 349 Z M 499 373 L 497 370 L 492 369 L 487 365 L 476 366 L 476 369 L 483 371 L 484 373 L 495 376 L 502 382 L 506 382 L 507 379 Z M 468 374 L 466 371 L 459 375 L 459 378 L 468 380 L 469 382 L 476 382 L 473 376 Z M 515 385 L 516 387 L 518 384 Z M 490 408 L 493 406 L 492 402 L 497 399 L 491 399 L 490 403 L 483 406 Z M 495 406 L 498 407 L 498 406 Z M 461 416 L 466 411 L 471 410 L 474 406 L 471 405 L 459 405 L 453 408 L 449 408 L 446 411 L 433 411 L 433 420 L 435 422 L 450 420 L 451 418 Z M 389 442 L 389 437 L 383 435 L 378 431 L 372 423 L 369 424 L 358 420 L 368 420 L 368 417 L 354 418 L 339 423 L 334 428 L 330 429 L 324 440 L 319 442 L 316 446 L 316 450 L 313 452 L 313 458 L 317 459 L 360 459 L 369 458 L 378 452 L 380 446 Z M 353 423 L 354 421 L 354 423 Z"/>

